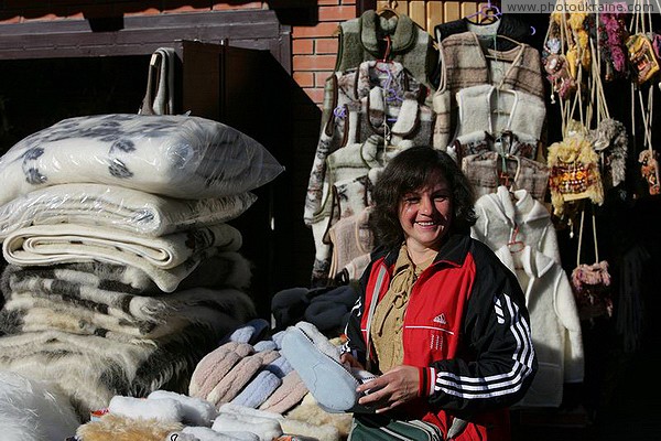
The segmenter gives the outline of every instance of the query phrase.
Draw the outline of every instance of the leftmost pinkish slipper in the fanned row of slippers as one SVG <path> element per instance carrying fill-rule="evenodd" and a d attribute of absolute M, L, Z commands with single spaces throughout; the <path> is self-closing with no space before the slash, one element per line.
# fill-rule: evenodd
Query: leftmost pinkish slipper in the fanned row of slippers
<path fill-rule="evenodd" d="M 205 355 L 193 370 L 188 395 L 206 399 L 234 365 L 252 352 L 252 346 L 247 343 L 228 342 Z"/>

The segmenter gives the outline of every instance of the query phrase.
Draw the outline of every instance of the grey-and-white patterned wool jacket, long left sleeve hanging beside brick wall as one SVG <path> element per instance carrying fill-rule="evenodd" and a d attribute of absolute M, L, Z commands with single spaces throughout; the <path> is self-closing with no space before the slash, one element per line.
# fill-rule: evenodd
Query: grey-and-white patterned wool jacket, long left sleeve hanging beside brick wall
<path fill-rule="evenodd" d="M 423 104 L 427 89 L 401 63 L 364 62 L 358 68 L 336 72 L 329 83 L 327 105 L 332 110 L 307 183 L 303 216 L 307 225 L 327 214 L 323 204 L 329 190 L 325 185 L 329 154 L 372 136 L 394 147 L 432 141 L 433 111 Z"/>

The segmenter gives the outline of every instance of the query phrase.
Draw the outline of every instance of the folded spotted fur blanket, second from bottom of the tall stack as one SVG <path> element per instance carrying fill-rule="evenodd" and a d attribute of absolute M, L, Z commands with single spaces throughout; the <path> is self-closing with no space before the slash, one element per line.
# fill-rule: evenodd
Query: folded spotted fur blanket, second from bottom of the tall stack
<path fill-rule="evenodd" d="M 197 288 L 160 298 L 128 297 L 128 303 L 122 305 L 126 309 L 71 301 L 71 298 L 39 291 L 15 291 L 7 299 L 0 311 L 0 330 L 8 334 L 55 329 L 95 335 L 112 331 L 126 334 L 126 338 L 156 338 L 189 323 L 216 326 L 221 322 L 227 330 L 254 316 L 254 303 L 248 294 L 231 289 Z M 131 313 L 133 300 L 136 306 L 147 306 L 136 308 L 140 318 Z"/>

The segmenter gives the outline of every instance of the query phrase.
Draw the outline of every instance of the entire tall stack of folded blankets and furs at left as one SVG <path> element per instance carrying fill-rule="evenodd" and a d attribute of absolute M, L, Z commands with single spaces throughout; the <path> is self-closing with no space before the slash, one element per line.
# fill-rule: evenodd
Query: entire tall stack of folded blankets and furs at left
<path fill-rule="evenodd" d="M 228 222 L 282 165 L 191 116 L 65 119 L 0 158 L 0 369 L 53 381 L 82 416 L 117 395 L 187 391 L 256 316 Z"/>

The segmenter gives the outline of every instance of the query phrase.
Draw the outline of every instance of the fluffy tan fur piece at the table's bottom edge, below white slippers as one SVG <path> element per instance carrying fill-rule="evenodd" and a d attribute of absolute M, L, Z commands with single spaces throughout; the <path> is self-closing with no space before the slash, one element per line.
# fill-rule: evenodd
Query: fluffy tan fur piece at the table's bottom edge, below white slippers
<path fill-rule="evenodd" d="M 107 413 L 78 427 L 76 435 L 85 441 L 163 441 L 169 433 L 182 428 L 178 422 Z"/>

